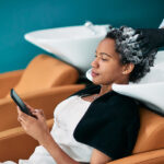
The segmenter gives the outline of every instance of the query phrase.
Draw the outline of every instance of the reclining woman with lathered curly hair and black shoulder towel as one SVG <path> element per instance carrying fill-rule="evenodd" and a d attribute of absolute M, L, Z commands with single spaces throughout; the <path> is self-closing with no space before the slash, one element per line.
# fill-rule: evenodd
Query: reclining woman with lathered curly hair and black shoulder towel
<path fill-rule="evenodd" d="M 105 164 L 131 154 L 140 127 L 138 105 L 112 84 L 137 82 L 153 66 L 156 51 L 139 36 L 130 27 L 110 27 L 92 62 L 94 85 L 57 106 L 51 132 L 42 110 L 27 105 L 35 119 L 17 108 L 22 127 L 40 144 L 20 164 Z"/>

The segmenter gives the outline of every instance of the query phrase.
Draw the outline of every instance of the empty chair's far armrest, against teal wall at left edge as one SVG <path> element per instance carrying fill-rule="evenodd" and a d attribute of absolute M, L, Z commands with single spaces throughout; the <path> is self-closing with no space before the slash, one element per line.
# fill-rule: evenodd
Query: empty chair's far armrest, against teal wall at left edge
<path fill-rule="evenodd" d="M 0 73 L 0 98 L 3 98 L 10 89 L 14 87 L 20 81 L 24 70 Z"/>

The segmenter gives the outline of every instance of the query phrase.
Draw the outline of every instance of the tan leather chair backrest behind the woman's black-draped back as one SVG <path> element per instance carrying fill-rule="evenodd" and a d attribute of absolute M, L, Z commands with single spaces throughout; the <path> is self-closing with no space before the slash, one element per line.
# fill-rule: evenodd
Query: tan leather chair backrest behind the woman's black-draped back
<path fill-rule="evenodd" d="M 164 148 L 164 117 L 147 108 L 140 108 L 140 131 L 132 153 L 161 148 Z"/>

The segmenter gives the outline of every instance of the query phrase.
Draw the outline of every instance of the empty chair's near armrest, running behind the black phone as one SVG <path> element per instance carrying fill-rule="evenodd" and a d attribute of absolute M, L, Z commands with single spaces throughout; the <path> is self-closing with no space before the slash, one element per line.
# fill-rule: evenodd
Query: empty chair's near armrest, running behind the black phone
<path fill-rule="evenodd" d="M 34 108 L 43 109 L 46 118 L 49 119 L 54 117 L 54 109 L 61 101 L 66 99 L 74 92 L 84 89 L 84 84 L 62 85 L 45 89 L 39 92 L 21 94 L 20 96 Z M 0 131 L 20 126 L 16 105 L 11 97 L 0 99 Z"/>

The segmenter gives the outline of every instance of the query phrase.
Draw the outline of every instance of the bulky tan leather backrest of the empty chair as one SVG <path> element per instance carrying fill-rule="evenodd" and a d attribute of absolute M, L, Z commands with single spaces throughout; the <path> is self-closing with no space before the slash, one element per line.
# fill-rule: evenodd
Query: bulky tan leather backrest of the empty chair
<path fill-rule="evenodd" d="M 79 78 L 75 68 L 48 55 L 36 56 L 25 69 L 20 82 L 14 87 L 19 93 L 73 84 Z"/>

